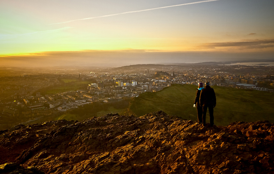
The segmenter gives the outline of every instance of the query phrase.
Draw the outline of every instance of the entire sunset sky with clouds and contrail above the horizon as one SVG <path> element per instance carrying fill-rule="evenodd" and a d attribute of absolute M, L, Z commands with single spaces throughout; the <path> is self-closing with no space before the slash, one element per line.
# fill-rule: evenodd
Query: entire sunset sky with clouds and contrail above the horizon
<path fill-rule="evenodd" d="M 273 0 L 0 0 L 0 66 L 274 61 Z"/>

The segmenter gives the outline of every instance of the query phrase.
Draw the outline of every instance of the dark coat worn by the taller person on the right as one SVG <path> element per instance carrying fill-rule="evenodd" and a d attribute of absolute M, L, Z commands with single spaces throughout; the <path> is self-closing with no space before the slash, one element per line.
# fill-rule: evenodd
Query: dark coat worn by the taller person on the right
<path fill-rule="evenodd" d="M 216 95 L 209 85 L 205 85 L 205 88 L 201 90 L 200 106 L 216 106 Z"/>

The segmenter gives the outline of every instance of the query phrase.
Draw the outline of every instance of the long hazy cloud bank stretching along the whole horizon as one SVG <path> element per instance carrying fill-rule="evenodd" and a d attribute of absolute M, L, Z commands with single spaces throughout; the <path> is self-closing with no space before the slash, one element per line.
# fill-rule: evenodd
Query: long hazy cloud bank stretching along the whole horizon
<path fill-rule="evenodd" d="M 26 55 L 0 56 L 6 67 L 101 66 L 119 67 L 134 64 L 174 64 L 197 62 L 229 62 L 241 60 L 273 60 L 273 52 L 154 52 L 152 50 L 82 50 L 40 52 Z"/>

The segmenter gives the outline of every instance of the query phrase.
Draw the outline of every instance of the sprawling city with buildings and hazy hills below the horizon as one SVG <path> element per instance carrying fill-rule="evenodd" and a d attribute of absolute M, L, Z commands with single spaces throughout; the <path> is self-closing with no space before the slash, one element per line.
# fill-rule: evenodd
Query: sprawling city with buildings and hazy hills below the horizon
<path fill-rule="evenodd" d="M 203 62 L 118 68 L 1 68 L 0 126 L 39 123 L 87 104 L 119 102 L 172 84 L 209 81 L 211 86 L 273 92 L 274 66 L 269 65 L 271 62 L 251 66 Z"/>

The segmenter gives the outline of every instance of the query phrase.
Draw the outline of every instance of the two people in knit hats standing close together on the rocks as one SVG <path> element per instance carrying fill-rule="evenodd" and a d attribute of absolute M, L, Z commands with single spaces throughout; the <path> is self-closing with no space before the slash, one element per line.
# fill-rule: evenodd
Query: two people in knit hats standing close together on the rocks
<path fill-rule="evenodd" d="M 216 95 L 214 89 L 211 88 L 208 81 L 205 82 L 205 87 L 203 88 L 203 83 L 199 83 L 199 88 L 196 91 L 196 97 L 193 107 L 197 105 L 197 115 L 198 123 L 205 126 L 205 117 L 207 110 L 210 116 L 210 125 L 214 125 L 213 108 L 216 106 Z"/>

